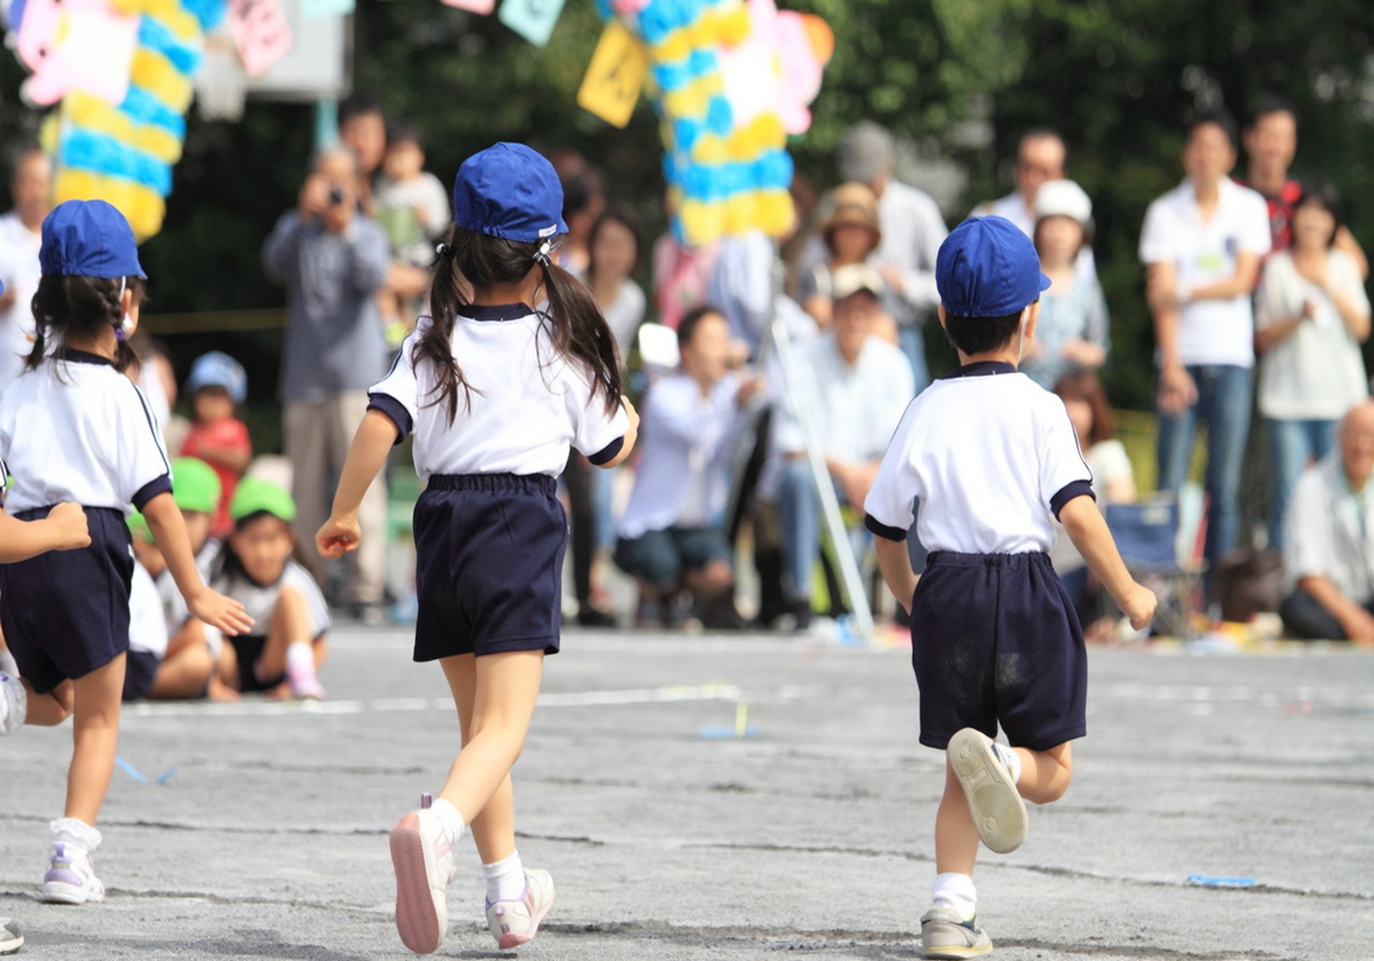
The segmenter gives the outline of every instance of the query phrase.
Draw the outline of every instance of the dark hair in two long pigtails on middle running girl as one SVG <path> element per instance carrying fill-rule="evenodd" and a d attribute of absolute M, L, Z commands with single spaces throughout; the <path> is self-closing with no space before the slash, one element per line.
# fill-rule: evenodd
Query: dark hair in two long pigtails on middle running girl
<path fill-rule="evenodd" d="M 467 288 L 485 290 L 518 283 L 539 265 L 544 273 L 541 288 L 548 297 L 548 313 L 554 350 L 559 357 L 581 362 L 591 380 L 592 398 L 598 394 L 611 415 L 620 406 L 620 361 L 616 342 L 606 325 L 596 301 L 577 277 L 556 264 L 536 261 L 540 244 L 506 240 L 477 233 L 463 227 L 453 228 L 449 250 L 440 257 L 430 286 L 430 314 L 433 324 L 420 335 L 415 346 L 415 360 L 434 365 L 437 383 L 427 405 L 442 404 L 448 420 L 458 416 L 458 395 L 471 406 L 473 387 L 459 358 L 453 357 L 453 323 L 471 301 Z"/>

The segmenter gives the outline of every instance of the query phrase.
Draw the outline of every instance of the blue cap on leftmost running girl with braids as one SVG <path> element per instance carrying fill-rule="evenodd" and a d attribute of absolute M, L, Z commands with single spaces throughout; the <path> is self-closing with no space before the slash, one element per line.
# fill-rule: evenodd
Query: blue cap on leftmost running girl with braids
<path fill-rule="evenodd" d="M 43 221 L 44 276 L 147 277 L 129 221 L 104 200 L 67 200 Z"/>

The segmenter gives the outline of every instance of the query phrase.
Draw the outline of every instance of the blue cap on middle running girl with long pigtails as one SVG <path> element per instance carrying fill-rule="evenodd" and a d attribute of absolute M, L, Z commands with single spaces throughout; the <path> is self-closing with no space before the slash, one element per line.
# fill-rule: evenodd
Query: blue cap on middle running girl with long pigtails
<path fill-rule="evenodd" d="M 473 154 L 453 181 L 453 222 L 477 233 L 539 243 L 567 233 L 563 185 L 541 154 L 499 143 Z"/>

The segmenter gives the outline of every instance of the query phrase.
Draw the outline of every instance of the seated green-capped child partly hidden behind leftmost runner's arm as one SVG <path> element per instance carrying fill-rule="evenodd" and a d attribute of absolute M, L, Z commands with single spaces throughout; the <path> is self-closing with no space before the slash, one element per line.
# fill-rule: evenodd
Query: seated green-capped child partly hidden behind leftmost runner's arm
<path fill-rule="evenodd" d="M 172 461 L 172 497 L 181 508 L 191 553 L 201 577 L 209 578 L 206 557 L 217 548 L 210 538 L 210 522 L 220 504 L 220 478 L 214 468 L 195 457 Z M 207 632 L 187 611 L 142 515 L 129 518 L 129 530 L 139 563 L 129 594 L 129 662 L 124 675 L 124 700 L 236 699 L 238 693 L 224 686 L 214 671 L 218 632 Z"/>

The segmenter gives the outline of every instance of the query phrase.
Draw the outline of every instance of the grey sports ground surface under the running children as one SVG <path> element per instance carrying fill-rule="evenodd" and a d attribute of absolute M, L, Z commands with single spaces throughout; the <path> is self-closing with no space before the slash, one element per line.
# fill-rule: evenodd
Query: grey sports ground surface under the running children
<path fill-rule="evenodd" d="M 1091 671 L 1073 787 L 978 868 L 993 957 L 1374 958 L 1374 655 L 1109 648 Z M 37 902 L 70 729 L 0 741 L 19 957 L 414 957 L 386 832 L 442 783 L 448 691 L 400 630 L 338 629 L 322 680 L 317 704 L 126 711 L 147 783 L 115 772 L 100 905 Z M 518 957 L 919 957 L 943 756 L 916 725 L 900 647 L 570 630 L 515 772 L 521 854 L 558 885 Z M 469 843 L 460 864 L 437 957 L 500 957 Z"/>

